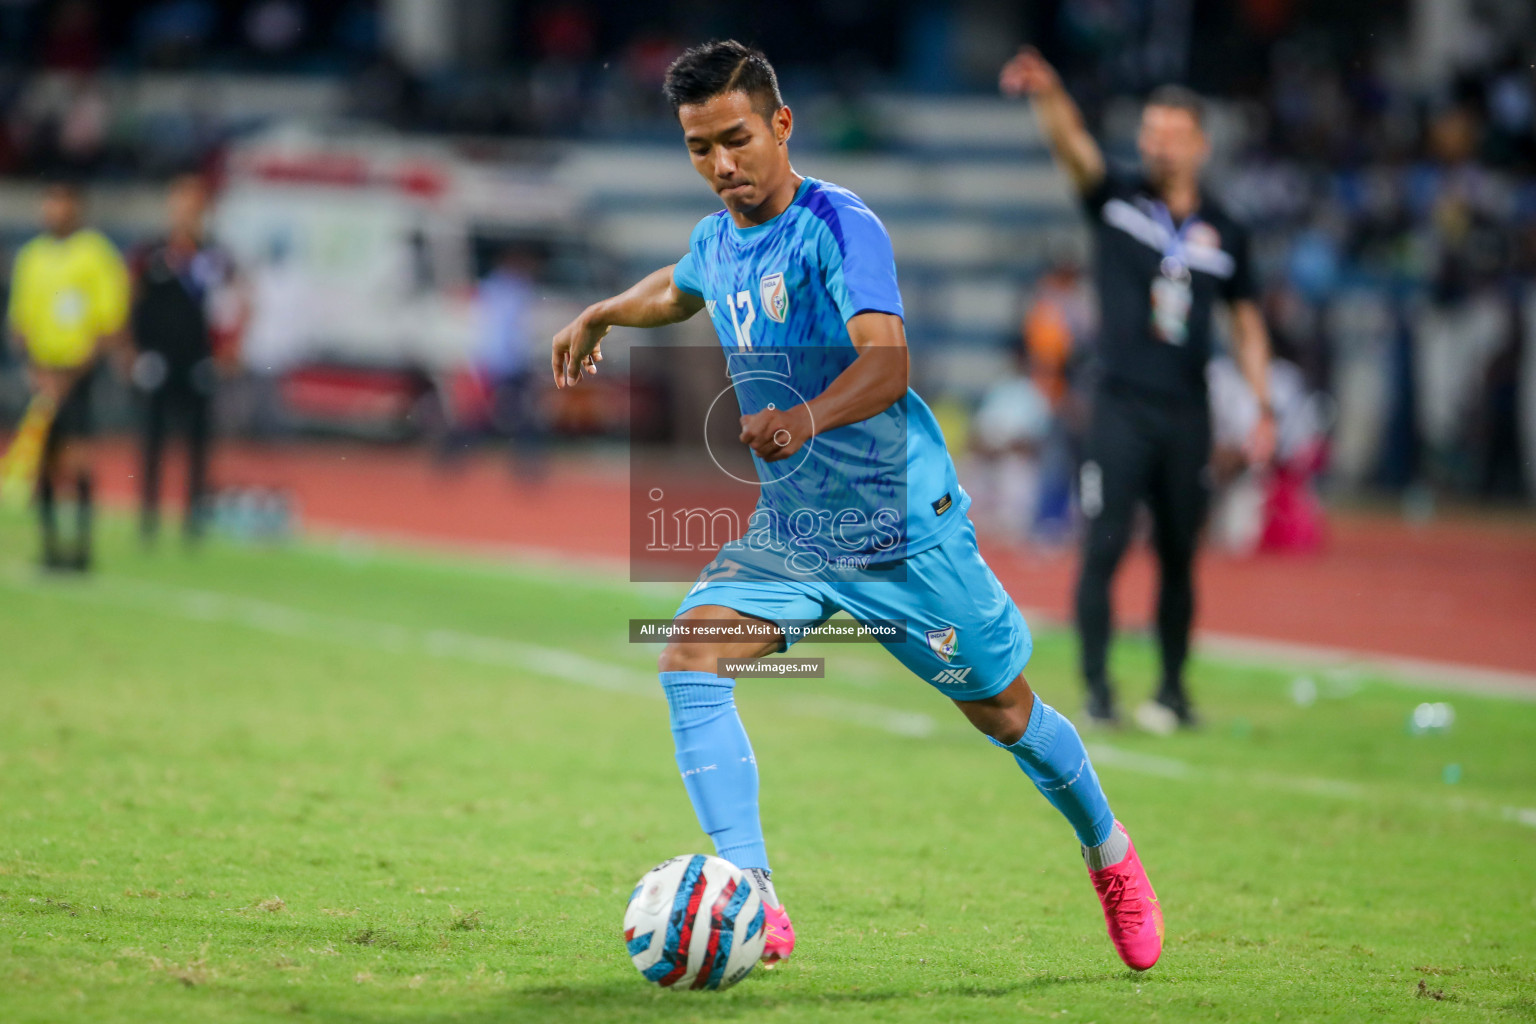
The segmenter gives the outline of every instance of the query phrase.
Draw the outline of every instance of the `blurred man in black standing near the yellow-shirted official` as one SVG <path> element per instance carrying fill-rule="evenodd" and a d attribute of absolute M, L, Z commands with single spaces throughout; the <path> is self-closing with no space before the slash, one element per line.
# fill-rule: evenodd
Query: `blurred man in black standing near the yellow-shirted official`
<path fill-rule="evenodd" d="M 198 175 L 170 184 L 170 233 L 135 258 L 131 327 L 138 352 L 134 385 L 144 395 L 140 533 L 160 531 L 160 470 L 166 433 L 180 427 L 187 442 L 187 508 L 183 534 L 195 540 L 207 513 L 207 464 L 217 382 L 210 301 L 233 279 L 233 264 L 203 235 L 207 186 Z"/>

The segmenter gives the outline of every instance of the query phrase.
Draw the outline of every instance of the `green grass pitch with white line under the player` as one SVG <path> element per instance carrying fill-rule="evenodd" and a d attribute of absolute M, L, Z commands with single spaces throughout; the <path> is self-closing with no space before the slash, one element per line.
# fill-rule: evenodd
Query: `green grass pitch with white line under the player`
<path fill-rule="evenodd" d="M 739 691 L 796 956 L 668 993 L 619 921 L 707 840 L 625 622 L 680 588 L 121 524 L 95 579 L 29 554 L 0 519 L 9 1024 L 1536 1019 L 1533 703 L 1200 660 L 1203 732 L 1089 737 L 1167 917 L 1137 976 L 1012 761 L 822 646 L 828 679 Z M 1071 659 L 1040 631 L 1029 676 L 1075 712 Z M 1422 700 L 1448 734 L 1409 735 Z"/>

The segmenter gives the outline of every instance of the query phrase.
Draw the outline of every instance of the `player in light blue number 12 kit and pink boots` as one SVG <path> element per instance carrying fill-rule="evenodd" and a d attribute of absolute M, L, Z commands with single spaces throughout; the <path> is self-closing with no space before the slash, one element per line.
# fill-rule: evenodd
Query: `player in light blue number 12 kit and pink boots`
<path fill-rule="evenodd" d="M 554 382 L 571 387 L 594 372 L 610 327 L 657 327 L 708 310 L 728 362 L 770 358 L 793 378 L 777 393 L 806 396 L 759 401 L 743 387 L 756 375 L 733 368 L 740 441 L 762 482 L 754 520 L 762 513 L 771 530 L 777 513 L 831 516 L 837 530 L 817 539 L 820 550 L 840 543 L 871 559 L 868 573 L 849 577 L 796 571 L 796 557 L 751 571 L 759 548 L 730 543 L 684 599 L 676 625 L 770 623 L 771 639 L 674 639 L 660 656 L 677 766 L 699 824 L 770 907 L 763 960 L 788 958 L 794 929 L 771 881 L 757 763 L 736 711 L 736 683 L 717 674 L 719 662 L 782 651 L 842 609 L 860 622 L 900 622 L 903 636 L 886 648 L 1011 752 L 1068 818 L 1117 952 L 1146 970 L 1163 947 L 1157 897 L 1077 729 L 1025 682 L 1029 629 L 977 553 L 969 497 L 932 413 L 908 388 L 885 227 L 854 193 L 790 164 L 794 117 L 760 52 L 736 41 L 690 49 L 668 69 L 665 92 L 694 170 L 725 209 L 699 223 L 674 266 L 590 306 L 554 336 Z M 892 494 L 899 507 L 880 507 L 874 517 L 849 507 Z M 849 505 L 839 511 L 839 502 Z M 794 548 L 796 556 L 806 550 Z"/>

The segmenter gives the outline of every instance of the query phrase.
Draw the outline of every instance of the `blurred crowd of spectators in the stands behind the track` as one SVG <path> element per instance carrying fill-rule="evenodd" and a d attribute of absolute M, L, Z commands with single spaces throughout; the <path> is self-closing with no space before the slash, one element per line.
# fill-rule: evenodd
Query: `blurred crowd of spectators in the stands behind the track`
<path fill-rule="evenodd" d="M 1479 8 L 1484 32 L 1433 81 L 1407 74 L 1389 43 L 1401 43 L 1409 5 L 1193 3 L 1172 25 L 1169 5 L 1130 0 L 1026 12 L 803 0 L 774 17 L 470 6 L 495 31 L 462 46 L 462 61 L 424 68 L 390 43 L 389 5 L 370 0 L 0 0 L 0 177 L 163 180 L 215 164 L 250 127 L 198 109 L 134 121 L 121 72 L 141 71 L 324 78 L 346 89 L 352 114 L 407 130 L 670 138 L 656 86 L 687 40 L 714 34 L 756 37 L 780 55 L 793 94 L 840 112 L 819 118 L 837 124 L 823 146 L 891 149 L 862 94 L 988 89 L 995 57 L 1029 37 L 1112 157 L 1129 155 L 1117 97 L 1167 78 L 1220 97 L 1215 186 L 1253 227 L 1276 352 L 1301 393 L 1366 396 L 1339 401 L 1353 411 L 1336 422 L 1333 402 L 1307 407 L 1309 428 L 1332 431 L 1342 479 L 1504 500 L 1531 490 L 1521 381 L 1536 322 L 1536 34 L 1519 3 Z M 986 18 L 1006 31 L 977 32 Z M 1043 497 L 1048 533 L 1068 500 L 1071 396 L 1094 348 L 1084 287 L 1072 261 L 1043 267 L 1020 335 L 997 339 L 1031 361 L 1043 399 L 1029 457 L 1057 482 Z M 997 419 L 982 410 L 983 447 Z M 1307 457 L 1326 464 L 1321 451 Z"/>

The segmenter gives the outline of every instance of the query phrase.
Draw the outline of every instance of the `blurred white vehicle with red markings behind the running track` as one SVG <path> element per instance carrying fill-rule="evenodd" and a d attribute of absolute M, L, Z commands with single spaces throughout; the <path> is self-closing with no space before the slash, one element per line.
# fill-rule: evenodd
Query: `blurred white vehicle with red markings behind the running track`
<path fill-rule="evenodd" d="M 578 200 L 539 157 L 355 127 L 233 146 L 214 230 L 250 281 L 246 367 L 278 382 L 301 425 L 430 430 L 462 390 L 475 287 L 499 247 L 528 246 L 554 272 L 536 336 L 581 309 Z"/>

